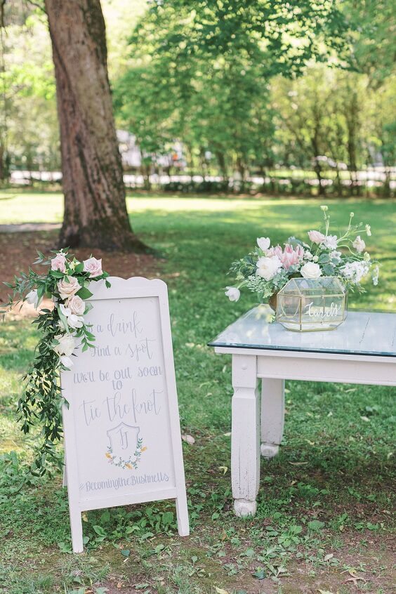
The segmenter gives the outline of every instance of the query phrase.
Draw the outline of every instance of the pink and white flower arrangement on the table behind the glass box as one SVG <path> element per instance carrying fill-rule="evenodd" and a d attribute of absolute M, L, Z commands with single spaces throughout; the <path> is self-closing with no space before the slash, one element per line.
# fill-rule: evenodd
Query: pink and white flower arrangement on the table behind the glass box
<path fill-rule="evenodd" d="M 371 271 L 374 285 L 378 284 L 378 263 L 371 260 L 361 237 L 363 233 L 371 235 L 370 225 L 352 225 L 354 213 L 350 213 L 345 232 L 330 235 L 329 208 L 320 208 L 324 230 L 308 231 L 309 241 L 289 237 L 282 248 L 272 246 L 269 237 L 259 237 L 254 251 L 232 263 L 230 273 L 235 275 L 237 284 L 226 287 L 225 295 L 230 301 L 238 301 L 240 289 L 246 286 L 257 294 L 259 303 L 264 303 L 293 277 L 338 277 L 346 289 L 362 292 L 362 279 Z"/>

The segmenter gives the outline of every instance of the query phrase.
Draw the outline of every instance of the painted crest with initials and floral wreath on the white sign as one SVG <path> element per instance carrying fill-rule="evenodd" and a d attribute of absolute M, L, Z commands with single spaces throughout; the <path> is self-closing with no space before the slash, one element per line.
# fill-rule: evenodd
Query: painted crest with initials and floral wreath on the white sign
<path fill-rule="evenodd" d="M 143 447 L 143 439 L 139 437 L 140 428 L 119 423 L 107 431 L 109 446 L 105 454 L 110 464 L 127 470 L 137 470 Z"/>

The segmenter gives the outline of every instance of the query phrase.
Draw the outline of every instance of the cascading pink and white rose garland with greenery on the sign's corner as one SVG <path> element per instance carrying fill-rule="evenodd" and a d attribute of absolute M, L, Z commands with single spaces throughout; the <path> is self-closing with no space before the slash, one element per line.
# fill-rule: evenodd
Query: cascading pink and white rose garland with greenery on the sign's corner
<path fill-rule="evenodd" d="M 34 360 L 23 380 L 25 390 L 18 401 L 18 421 L 22 421 L 22 431 L 29 433 L 32 425 L 41 424 L 42 440 L 36 448 L 36 456 L 30 470 L 33 475 L 46 472 L 46 462 L 53 461 L 59 467 L 62 461 L 55 450 L 55 444 L 62 437 L 62 397 L 59 372 L 70 369 L 79 346 L 82 350 L 93 348 L 95 336 L 91 325 L 86 324 L 84 316 L 93 307 L 86 301 L 92 296 L 88 289 L 93 281 L 105 279 L 107 272 L 102 270 L 102 260 L 88 258 L 79 262 L 69 256 L 67 249 L 46 258 L 41 252 L 34 264 L 44 265 L 44 274 L 29 268 L 28 274 L 22 272 L 15 276 L 14 283 L 5 283 L 13 290 L 6 305 L 10 310 L 18 303 L 26 301 L 39 308 L 44 297 L 51 298 L 53 309 L 43 308 L 34 319 L 41 331 L 41 338 L 35 350 Z"/>

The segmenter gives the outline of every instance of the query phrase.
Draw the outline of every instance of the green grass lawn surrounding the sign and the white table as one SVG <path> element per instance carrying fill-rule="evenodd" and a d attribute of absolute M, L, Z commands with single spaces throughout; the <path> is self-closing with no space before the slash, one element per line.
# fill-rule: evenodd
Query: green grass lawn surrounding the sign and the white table
<path fill-rule="evenodd" d="M 350 307 L 394 311 L 396 202 L 328 204 L 335 230 L 351 210 L 371 223 L 367 244 L 382 263 L 377 289 L 350 296 Z M 195 438 L 183 443 L 192 534 L 178 537 L 169 502 L 93 511 L 86 553 L 70 554 L 60 475 L 21 488 L 34 435 L 20 433 L 14 411 L 36 335 L 26 319 L 11 320 L 0 326 L 0 592 L 390 592 L 395 388 L 287 382 L 284 441 L 261 462 L 258 513 L 232 513 L 230 358 L 206 343 L 254 303 L 227 301 L 225 272 L 256 237 L 283 242 L 317 228 L 319 202 L 141 194 L 128 208 L 165 257 L 157 270 L 169 284 L 180 418 Z M 0 191 L 0 225 L 61 216 L 59 194 Z"/>

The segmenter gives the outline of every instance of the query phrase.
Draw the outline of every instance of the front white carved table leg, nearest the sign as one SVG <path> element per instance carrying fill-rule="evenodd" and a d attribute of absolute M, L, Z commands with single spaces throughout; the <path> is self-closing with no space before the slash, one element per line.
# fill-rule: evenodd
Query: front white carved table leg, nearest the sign
<path fill-rule="evenodd" d="M 232 355 L 231 477 L 237 516 L 256 513 L 260 484 L 260 399 L 257 357 Z"/>

